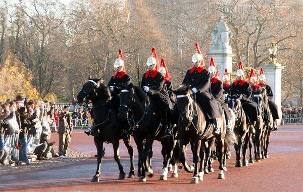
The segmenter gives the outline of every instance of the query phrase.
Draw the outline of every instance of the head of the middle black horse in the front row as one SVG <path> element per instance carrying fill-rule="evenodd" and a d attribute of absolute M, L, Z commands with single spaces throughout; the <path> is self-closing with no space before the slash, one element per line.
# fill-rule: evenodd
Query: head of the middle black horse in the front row
<path fill-rule="evenodd" d="M 132 83 L 129 85 L 122 85 L 122 90 L 119 96 L 120 107 L 118 118 L 121 121 L 126 120 L 126 113 L 128 109 L 137 110 L 141 104 L 145 101 L 144 105 L 149 105 L 149 99 L 139 87 L 134 86 Z M 144 107 L 142 105 L 142 107 Z M 132 111 L 135 113 L 135 111 Z"/>

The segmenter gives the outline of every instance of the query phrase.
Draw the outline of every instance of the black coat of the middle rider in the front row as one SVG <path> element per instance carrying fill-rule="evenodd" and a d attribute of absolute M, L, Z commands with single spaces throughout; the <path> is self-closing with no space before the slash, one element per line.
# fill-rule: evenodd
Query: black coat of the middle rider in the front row
<path fill-rule="evenodd" d="M 166 109 L 173 109 L 173 105 L 169 98 L 169 93 L 167 90 L 167 87 L 164 82 L 164 77 L 160 72 L 157 72 L 155 77 L 151 77 L 150 74 L 145 78 L 145 74 L 143 74 L 142 80 L 141 80 L 141 88 L 144 86 L 149 87 L 149 92 L 147 92 L 147 95 L 153 101 L 158 108 L 160 108 L 161 111 L 164 110 L 163 107 Z"/>

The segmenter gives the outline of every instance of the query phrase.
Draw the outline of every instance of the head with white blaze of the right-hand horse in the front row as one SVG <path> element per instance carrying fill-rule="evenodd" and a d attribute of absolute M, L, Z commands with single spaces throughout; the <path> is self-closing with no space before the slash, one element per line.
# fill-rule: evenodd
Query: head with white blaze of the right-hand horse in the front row
<path fill-rule="evenodd" d="M 191 122 L 191 106 L 193 105 L 192 92 L 188 85 L 180 86 L 173 92 L 176 94 L 178 110 L 182 117 L 181 121 L 183 125 L 187 127 Z"/>

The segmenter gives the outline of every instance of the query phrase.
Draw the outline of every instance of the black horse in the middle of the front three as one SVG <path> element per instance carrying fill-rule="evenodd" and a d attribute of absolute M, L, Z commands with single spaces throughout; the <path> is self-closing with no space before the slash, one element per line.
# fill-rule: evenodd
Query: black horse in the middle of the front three
<path fill-rule="evenodd" d="M 138 173 L 139 182 L 146 182 L 146 173 L 149 177 L 154 176 L 154 171 L 147 162 L 147 155 L 154 140 L 161 142 L 163 153 L 165 153 L 162 174 L 160 180 L 167 180 L 168 166 L 172 163 L 173 173 L 171 177 L 177 177 L 177 167 L 173 158 L 173 149 L 175 141 L 173 137 L 159 137 L 164 135 L 165 129 L 162 128 L 161 114 L 153 102 L 150 102 L 149 97 L 139 87 L 132 83 L 124 85 L 120 94 L 120 108 L 118 118 L 122 121 L 127 120 L 133 130 L 133 137 L 137 145 L 139 160 L 141 162 L 141 170 L 139 167 Z M 130 115 L 131 113 L 131 115 Z M 142 145 L 146 139 L 145 147 Z"/>

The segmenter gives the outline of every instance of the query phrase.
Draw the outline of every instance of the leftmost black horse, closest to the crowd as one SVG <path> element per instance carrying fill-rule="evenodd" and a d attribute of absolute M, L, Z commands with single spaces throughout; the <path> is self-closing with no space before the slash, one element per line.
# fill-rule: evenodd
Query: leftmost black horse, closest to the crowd
<path fill-rule="evenodd" d="M 120 163 L 119 155 L 119 140 L 124 137 L 124 131 L 121 127 L 124 126 L 123 123 L 118 121 L 117 114 L 113 109 L 113 104 L 111 102 L 111 93 L 108 86 L 104 85 L 100 79 L 88 78 L 88 81 L 83 85 L 82 89 L 77 95 L 77 103 L 86 105 L 91 102 L 93 110 L 93 140 L 97 148 L 97 170 L 95 175 L 92 177 L 91 182 L 98 182 L 99 176 L 101 174 L 101 164 L 102 164 L 102 151 L 104 147 L 104 142 L 110 142 L 113 144 L 114 148 L 114 158 L 118 163 L 120 170 L 118 179 L 125 179 L 125 172 L 123 171 L 123 166 Z M 130 157 L 130 172 L 128 178 L 134 177 L 134 150 L 128 140 L 124 140 L 125 146 L 127 147 L 129 157 Z"/>

